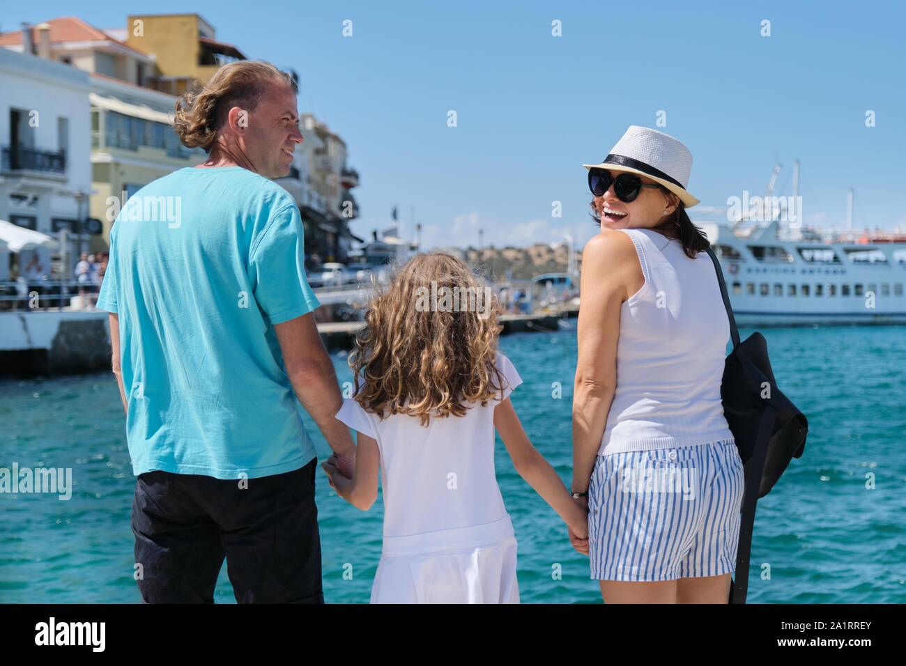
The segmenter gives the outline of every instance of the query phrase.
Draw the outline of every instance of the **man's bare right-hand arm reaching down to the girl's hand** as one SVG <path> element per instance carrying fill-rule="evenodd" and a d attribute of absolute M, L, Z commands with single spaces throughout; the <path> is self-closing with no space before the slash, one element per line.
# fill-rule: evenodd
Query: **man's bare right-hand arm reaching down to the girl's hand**
<path fill-rule="evenodd" d="M 347 460 L 344 458 L 352 456 L 355 445 L 346 424 L 334 418 L 342 406 L 342 393 L 333 371 L 333 362 L 314 323 L 314 314 L 303 314 L 288 322 L 275 323 L 274 330 L 296 396 L 331 449 L 345 463 Z M 338 467 L 343 474 L 352 471 L 345 464 Z"/>

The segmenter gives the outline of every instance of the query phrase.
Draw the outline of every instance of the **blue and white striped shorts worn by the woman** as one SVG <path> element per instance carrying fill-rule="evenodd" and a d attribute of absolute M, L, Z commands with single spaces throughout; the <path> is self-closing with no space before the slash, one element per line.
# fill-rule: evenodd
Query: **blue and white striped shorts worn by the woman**
<path fill-rule="evenodd" d="M 744 482 L 732 439 L 598 456 L 588 490 L 592 578 L 669 581 L 732 572 Z"/>

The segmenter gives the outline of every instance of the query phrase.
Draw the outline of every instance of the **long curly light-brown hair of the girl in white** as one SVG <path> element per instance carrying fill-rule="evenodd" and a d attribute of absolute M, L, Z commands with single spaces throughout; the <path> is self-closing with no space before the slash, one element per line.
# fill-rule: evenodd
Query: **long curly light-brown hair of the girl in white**
<path fill-rule="evenodd" d="M 443 252 L 415 256 L 394 272 L 390 285 L 375 290 L 365 313 L 367 326 L 350 353 L 356 401 L 381 420 L 408 414 L 423 426 L 429 417 L 463 416 L 469 407 L 465 401 L 486 404 L 506 381 L 495 363 L 503 311 L 494 290 Z M 476 298 L 477 308 L 426 309 L 419 299 L 425 290 L 436 293 L 432 283 L 437 293 L 441 287 L 458 287 L 458 294 L 478 289 L 486 300 Z"/>

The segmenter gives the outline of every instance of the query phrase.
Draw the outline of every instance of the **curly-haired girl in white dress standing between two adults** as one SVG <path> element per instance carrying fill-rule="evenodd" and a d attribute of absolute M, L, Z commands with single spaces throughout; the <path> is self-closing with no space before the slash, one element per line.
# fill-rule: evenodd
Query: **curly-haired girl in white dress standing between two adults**
<path fill-rule="evenodd" d="M 459 294 L 458 306 L 445 294 Z M 323 468 L 338 495 L 367 511 L 380 467 L 384 538 L 371 603 L 519 603 L 495 428 L 516 472 L 587 536 L 584 508 L 510 402 L 522 379 L 496 352 L 499 314 L 491 290 L 443 253 L 411 259 L 365 314 L 349 361 L 356 393 L 336 415 L 358 433 L 355 472 L 342 476 L 333 458 Z"/>

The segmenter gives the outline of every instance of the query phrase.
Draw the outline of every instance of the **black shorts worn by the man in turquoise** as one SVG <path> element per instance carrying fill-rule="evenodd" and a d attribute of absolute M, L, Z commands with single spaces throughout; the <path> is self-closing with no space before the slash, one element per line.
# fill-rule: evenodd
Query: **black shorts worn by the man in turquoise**
<path fill-rule="evenodd" d="M 214 603 L 226 573 L 238 603 L 323 603 L 314 505 L 317 458 L 284 474 L 224 480 L 140 474 L 132 533 L 144 603 Z"/>

